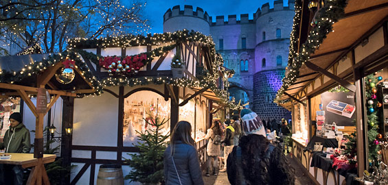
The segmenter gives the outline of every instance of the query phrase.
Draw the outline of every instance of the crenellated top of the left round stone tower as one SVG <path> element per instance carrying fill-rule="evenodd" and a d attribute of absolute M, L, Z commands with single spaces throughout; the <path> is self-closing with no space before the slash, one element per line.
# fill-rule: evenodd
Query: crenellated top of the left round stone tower
<path fill-rule="evenodd" d="M 164 13 L 163 23 L 175 16 L 196 16 L 198 18 L 204 19 L 205 21 L 207 21 L 207 23 L 211 22 L 209 21 L 211 20 L 209 19 L 209 14 L 207 14 L 207 12 L 204 12 L 202 8 L 197 7 L 196 11 L 194 11 L 192 5 L 185 5 L 184 9 L 181 10 L 181 7 L 179 5 L 176 5 L 172 9 L 169 8 L 166 13 Z"/>

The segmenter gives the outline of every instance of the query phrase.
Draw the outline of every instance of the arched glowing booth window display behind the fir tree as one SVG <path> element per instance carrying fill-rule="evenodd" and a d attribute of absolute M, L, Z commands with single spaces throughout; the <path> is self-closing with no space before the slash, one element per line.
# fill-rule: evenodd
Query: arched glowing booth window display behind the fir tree
<path fill-rule="evenodd" d="M 170 99 L 164 101 L 164 97 L 148 90 L 133 93 L 124 99 L 124 147 L 132 147 L 133 143 L 137 143 L 137 132 L 152 129 L 146 121 L 154 121 L 156 116 L 161 120 L 170 119 Z M 170 132 L 170 121 L 163 125 L 160 132 Z"/>

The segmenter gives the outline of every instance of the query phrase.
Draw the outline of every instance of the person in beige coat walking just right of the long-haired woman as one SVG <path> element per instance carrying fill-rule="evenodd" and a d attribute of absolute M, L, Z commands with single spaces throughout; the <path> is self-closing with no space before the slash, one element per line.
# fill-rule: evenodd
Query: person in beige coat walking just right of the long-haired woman
<path fill-rule="evenodd" d="M 207 130 L 205 139 L 209 140 L 207 142 L 206 152 L 207 152 L 207 161 L 206 161 L 206 176 L 210 176 L 210 169 L 212 169 L 212 160 L 213 163 L 213 175 L 217 175 L 218 171 L 218 156 L 220 156 L 221 151 L 221 134 L 222 130 L 220 128 L 220 121 L 214 121 L 211 128 Z"/>

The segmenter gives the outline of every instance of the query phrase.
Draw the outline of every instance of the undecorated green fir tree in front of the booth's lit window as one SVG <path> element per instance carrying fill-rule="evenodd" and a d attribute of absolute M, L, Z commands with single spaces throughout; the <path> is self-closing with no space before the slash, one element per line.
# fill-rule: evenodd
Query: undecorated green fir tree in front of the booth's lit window
<path fill-rule="evenodd" d="M 131 159 L 126 159 L 126 163 L 132 168 L 132 171 L 125 176 L 126 180 L 131 182 L 141 182 L 142 184 L 160 184 L 163 183 L 163 154 L 167 147 L 166 139 L 170 134 L 163 135 L 162 125 L 168 122 L 168 119 L 160 121 L 159 117 L 152 116 L 151 119 L 144 119 L 152 129 L 139 134 L 135 147 L 139 148 L 139 153 L 128 154 Z"/>

